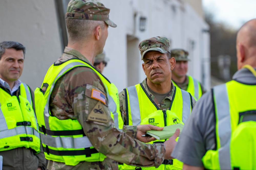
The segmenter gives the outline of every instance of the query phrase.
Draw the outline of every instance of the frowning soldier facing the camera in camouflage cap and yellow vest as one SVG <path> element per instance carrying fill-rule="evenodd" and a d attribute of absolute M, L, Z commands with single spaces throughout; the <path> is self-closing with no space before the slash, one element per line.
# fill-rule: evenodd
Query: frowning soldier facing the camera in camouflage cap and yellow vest
<path fill-rule="evenodd" d="M 162 124 L 160 125 L 162 127 L 185 123 L 194 106 L 195 99 L 188 92 L 177 89 L 171 81 L 171 70 L 175 66 L 175 59 L 170 56 L 169 39 L 166 37 L 148 38 L 139 44 L 139 49 L 141 60 L 144 61 L 142 68 L 147 77 L 142 83 L 127 87 L 119 93 L 120 112 L 124 124 L 153 124 L 156 126 Z M 180 109 L 175 110 L 175 108 Z M 159 112 L 159 110 L 161 111 Z M 168 115 L 168 110 L 175 114 Z M 161 120 L 157 120 L 159 115 Z M 157 169 L 180 169 L 182 163 L 179 164 L 181 165 L 176 166 L 175 161 L 165 160 Z M 131 166 L 125 164 L 120 166 L 120 169 L 129 168 Z M 149 169 L 154 169 L 154 167 Z"/>

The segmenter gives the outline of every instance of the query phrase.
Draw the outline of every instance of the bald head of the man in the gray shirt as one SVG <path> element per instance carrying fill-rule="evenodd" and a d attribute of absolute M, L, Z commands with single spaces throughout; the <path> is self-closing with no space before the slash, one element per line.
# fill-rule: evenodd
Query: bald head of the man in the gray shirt
<path fill-rule="evenodd" d="M 237 67 L 256 67 L 256 19 L 246 22 L 237 33 Z"/>

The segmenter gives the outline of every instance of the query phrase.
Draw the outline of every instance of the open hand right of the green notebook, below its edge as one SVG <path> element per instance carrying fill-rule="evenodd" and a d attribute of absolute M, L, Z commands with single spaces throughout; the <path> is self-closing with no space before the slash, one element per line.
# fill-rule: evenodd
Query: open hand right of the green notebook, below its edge
<path fill-rule="evenodd" d="M 179 136 L 179 133 L 180 133 L 180 129 L 176 129 L 173 136 L 164 142 L 164 145 L 165 145 L 165 158 L 164 159 L 173 159 L 171 157 L 171 154 L 172 154 L 173 148 L 175 147 L 175 145 L 177 143 L 176 138 Z"/>

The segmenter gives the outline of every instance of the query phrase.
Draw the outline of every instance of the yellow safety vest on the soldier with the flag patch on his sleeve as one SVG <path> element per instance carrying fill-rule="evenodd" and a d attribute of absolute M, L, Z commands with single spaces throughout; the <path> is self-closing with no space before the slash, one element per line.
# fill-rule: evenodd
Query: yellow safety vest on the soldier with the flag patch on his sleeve
<path fill-rule="evenodd" d="M 39 131 L 46 159 L 65 162 L 66 165 L 72 166 L 81 161 L 95 162 L 106 158 L 93 147 L 78 120 L 59 120 L 52 116 L 49 110 L 50 95 L 55 83 L 61 76 L 76 67 L 89 67 L 97 73 L 107 89 L 108 105 L 115 128 L 120 131 L 123 129 L 118 90 L 113 83 L 110 83 L 90 64 L 80 59 L 71 59 L 60 65 L 53 64 L 46 73 L 41 86 L 47 87 L 46 91 L 42 92 L 40 88 L 35 90 L 35 102 L 40 106 L 36 108 Z"/>

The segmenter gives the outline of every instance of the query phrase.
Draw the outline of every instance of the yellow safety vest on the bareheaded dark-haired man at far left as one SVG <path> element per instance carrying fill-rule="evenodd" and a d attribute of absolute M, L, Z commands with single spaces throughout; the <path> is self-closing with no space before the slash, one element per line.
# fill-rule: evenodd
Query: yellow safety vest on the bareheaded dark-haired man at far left
<path fill-rule="evenodd" d="M 40 136 L 29 87 L 22 83 L 18 97 L 2 88 L 0 94 L 0 151 L 25 147 L 40 152 Z"/>

